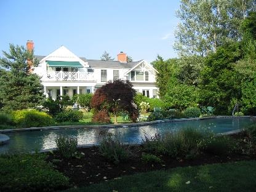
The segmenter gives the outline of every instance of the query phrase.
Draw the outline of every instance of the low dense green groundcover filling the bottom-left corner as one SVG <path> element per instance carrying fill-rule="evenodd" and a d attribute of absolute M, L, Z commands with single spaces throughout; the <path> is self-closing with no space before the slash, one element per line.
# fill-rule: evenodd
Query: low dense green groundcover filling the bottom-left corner
<path fill-rule="evenodd" d="M 0 156 L 0 191 L 55 191 L 68 188 L 68 178 L 54 170 L 44 154 Z"/>

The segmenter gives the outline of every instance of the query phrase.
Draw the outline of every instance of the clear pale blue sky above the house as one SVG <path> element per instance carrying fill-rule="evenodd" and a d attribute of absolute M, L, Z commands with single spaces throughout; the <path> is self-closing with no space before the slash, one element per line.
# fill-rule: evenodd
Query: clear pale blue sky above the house
<path fill-rule="evenodd" d="M 36 55 L 64 45 L 79 57 L 100 59 L 104 50 L 134 60 L 176 57 L 179 1 L 0 1 L 0 50 L 33 40 Z M 0 54 L 2 56 L 2 53 Z"/>

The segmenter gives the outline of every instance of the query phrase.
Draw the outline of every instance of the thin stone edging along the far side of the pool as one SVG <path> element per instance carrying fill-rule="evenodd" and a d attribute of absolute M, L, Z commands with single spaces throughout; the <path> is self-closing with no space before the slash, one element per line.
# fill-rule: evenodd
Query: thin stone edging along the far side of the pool
<path fill-rule="evenodd" d="M 126 123 L 126 124 L 108 124 L 108 125 L 95 125 L 95 126 L 50 126 L 50 127 L 30 127 L 21 129 L 2 129 L 0 134 L 10 133 L 10 132 L 23 132 L 23 131 L 33 131 L 33 130 L 56 130 L 56 129 L 82 129 L 82 128 L 118 128 L 118 127 L 138 127 L 138 126 L 148 126 L 151 124 L 158 124 L 162 122 L 178 122 L 178 121 L 198 121 L 203 119 L 217 119 L 217 118 L 253 118 L 256 116 L 210 116 L 204 118 L 180 118 L 180 119 L 162 119 L 156 121 L 145 121 L 136 123 Z"/>

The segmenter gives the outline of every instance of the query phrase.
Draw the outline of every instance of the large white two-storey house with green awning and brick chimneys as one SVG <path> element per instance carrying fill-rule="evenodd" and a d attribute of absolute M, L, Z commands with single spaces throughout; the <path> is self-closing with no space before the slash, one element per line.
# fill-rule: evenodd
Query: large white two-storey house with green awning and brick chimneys
<path fill-rule="evenodd" d="M 26 46 L 33 49 L 34 42 L 28 41 Z M 118 61 L 87 60 L 61 46 L 49 55 L 36 55 L 39 65 L 34 67 L 33 73 L 41 76 L 46 97 L 94 93 L 113 79 L 129 80 L 137 92 L 146 97 L 158 97 L 157 71 L 145 60 L 127 62 L 126 56 L 121 52 Z"/>

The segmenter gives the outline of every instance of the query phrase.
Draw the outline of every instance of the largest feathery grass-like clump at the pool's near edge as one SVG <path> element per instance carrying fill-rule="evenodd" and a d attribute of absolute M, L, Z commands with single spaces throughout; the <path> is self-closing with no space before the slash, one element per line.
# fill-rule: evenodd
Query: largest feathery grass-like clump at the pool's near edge
<path fill-rule="evenodd" d="M 193 158 L 199 153 L 198 141 L 202 133 L 194 129 L 182 129 L 164 135 L 162 142 L 166 154 L 172 158 Z"/>

